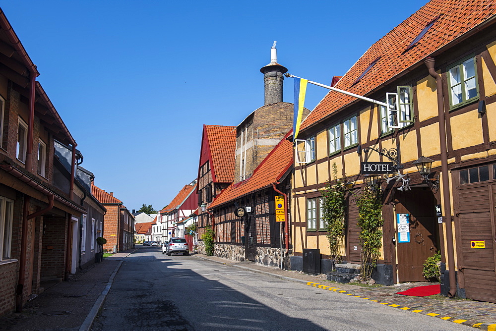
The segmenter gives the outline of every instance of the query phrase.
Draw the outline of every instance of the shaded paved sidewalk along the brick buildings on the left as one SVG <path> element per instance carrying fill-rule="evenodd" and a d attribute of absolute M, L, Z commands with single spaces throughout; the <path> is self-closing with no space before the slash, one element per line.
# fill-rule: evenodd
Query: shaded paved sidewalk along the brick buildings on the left
<path fill-rule="evenodd" d="M 94 319 L 89 313 L 95 311 L 95 303 L 102 292 L 110 288 L 111 276 L 117 272 L 123 258 L 134 250 L 114 254 L 69 281 L 50 287 L 26 303 L 22 313 L 0 318 L 0 330 L 79 330 L 83 324 L 88 325 L 88 320 L 93 322 Z"/>

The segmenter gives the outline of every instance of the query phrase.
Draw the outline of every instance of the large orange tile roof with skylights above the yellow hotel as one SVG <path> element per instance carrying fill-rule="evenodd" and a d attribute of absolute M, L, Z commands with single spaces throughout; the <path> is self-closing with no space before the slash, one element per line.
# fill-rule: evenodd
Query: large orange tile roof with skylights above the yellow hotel
<path fill-rule="evenodd" d="M 432 0 L 373 44 L 335 87 L 367 95 L 385 81 L 433 54 L 434 51 L 495 13 L 496 0 Z M 441 15 L 440 18 L 419 42 L 406 51 L 426 25 L 439 15 Z M 379 56 L 380 59 L 370 71 L 358 83 L 353 84 Z M 301 129 L 303 130 L 354 100 L 356 99 L 353 97 L 330 91 L 310 112 L 302 123 Z"/>

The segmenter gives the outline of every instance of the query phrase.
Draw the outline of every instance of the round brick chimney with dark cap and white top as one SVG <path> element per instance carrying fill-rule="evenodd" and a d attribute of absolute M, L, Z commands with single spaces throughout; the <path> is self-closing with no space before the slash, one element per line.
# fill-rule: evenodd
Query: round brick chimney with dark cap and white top
<path fill-rule="evenodd" d="M 284 74 L 288 69 L 277 63 L 276 41 L 270 49 L 270 63 L 260 69 L 263 73 L 263 83 L 265 85 L 264 105 L 282 102 L 282 86 Z"/>

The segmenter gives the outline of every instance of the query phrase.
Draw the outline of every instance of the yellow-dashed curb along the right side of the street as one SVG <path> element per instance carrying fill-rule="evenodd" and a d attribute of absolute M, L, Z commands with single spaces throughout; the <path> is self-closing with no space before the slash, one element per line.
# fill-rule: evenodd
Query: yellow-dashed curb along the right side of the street
<path fill-rule="evenodd" d="M 320 284 L 320 283 L 313 282 L 313 281 L 306 281 L 306 280 L 301 280 L 301 279 L 297 279 L 297 278 L 292 278 L 292 277 L 287 277 L 287 276 L 281 276 L 281 275 L 272 274 L 272 273 L 268 273 L 268 272 L 261 271 L 261 270 L 251 269 L 251 268 L 244 267 L 244 266 L 231 265 L 231 264 L 223 263 L 223 262 L 220 262 L 220 261 L 215 261 L 215 260 L 211 260 L 211 259 L 208 259 L 208 258 L 204 258 L 202 256 L 195 256 L 195 257 L 196 258 L 200 258 L 202 260 L 208 260 L 208 261 L 211 261 L 211 262 L 228 265 L 230 267 L 236 267 L 236 268 L 240 268 L 240 269 L 246 269 L 246 270 L 252 271 L 254 273 L 259 273 L 259 274 L 264 274 L 264 275 L 268 275 L 268 276 L 273 276 L 273 277 L 276 277 L 276 278 L 279 278 L 279 279 L 284 279 L 284 280 L 289 280 L 289 281 L 304 283 L 304 284 L 309 285 L 311 287 L 317 287 L 317 288 L 321 288 L 321 289 L 324 289 L 324 290 L 333 291 L 333 292 L 336 292 L 336 293 L 342 293 L 342 294 L 345 294 L 345 295 L 351 295 L 351 296 L 354 296 L 354 297 L 357 297 L 357 298 L 362 298 L 362 299 L 365 299 L 365 300 L 370 300 L 372 302 L 377 302 L 380 305 L 387 305 L 388 307 L 392 307 L 392 308 L 398 308 L 398 309 L 410 311 L 410 312 L 413 312 L 413 313 L 423 313 L 422 315 L 437 317 L 437 318 L 439 318 L 441 320 L 453 322 L 455 324 L 462 324 L 462 325 L 465 325 L 465 326 L 468 326 L 468 327 L 472 327 L 472 328 L 476 328 L 476 329 L 481 329 L 483 331 L 496 331 L 496 324 L 474 323 L 474 322 L 467 321 L 467 320 L 462 320 L 462 319 L 456 319 L 455 320 L 455 319 L 453 319 L 452 317 L 449 317 L 449 316 L 443 316 L 442 314 L 437 314 L 437 313 L 427 313 L 427 312 L 425 312 L 423 310 L 420 310 L 420 309 L 410 310 L 409 307 L 402 307 L 402 305 L 396 305 L 396 304 L 391 303 L 391 302 L 387 302 L 386 303 L 386 302 L 380 302 L 380 300 L 372 300 L 370 298 L 365 298 L 365 297 L 362 297 L 360 295 L 354 295 L 353 293 L 349 293 L 348 291 L 345 291 L 345 290 L 343 290 L 341 288 L 332 287 L 332 286 L 329 286 L 329 285 L 324 285 L 324 284 Z"/>

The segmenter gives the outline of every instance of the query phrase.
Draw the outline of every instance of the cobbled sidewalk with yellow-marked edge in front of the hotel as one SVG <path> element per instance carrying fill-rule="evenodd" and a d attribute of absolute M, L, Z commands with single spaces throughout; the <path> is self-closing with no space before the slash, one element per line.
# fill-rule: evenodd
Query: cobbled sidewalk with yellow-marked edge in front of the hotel
<path fill-rule="evenodd" d="M 322 290 L 331 290 L 342 293 L 343 295 L 352 295 L 357 297 L 357 300 L 371 300 L 377 302 L 377 304 L 409 310 L 413 313 L 429 315 L 481 330 L 496 330 L 496 304 L 494 303 L 469 299 L 449 299 L 441 295 L 414 297 L 395 294 L 395 292 L 404 291 L 411 287 L 432 284 L 428 282 L 403 283 L 393 286 L 341 284 L 328 281 L 325 275 L 310 276 L 302 272 L 261 266 L 251 261 L 237 262 L 213 256 L 207 257 L 202 254 L 195 254 L 193 256 L 256 273 L 302 282 L 309 286 L 319 287 Z"/>

